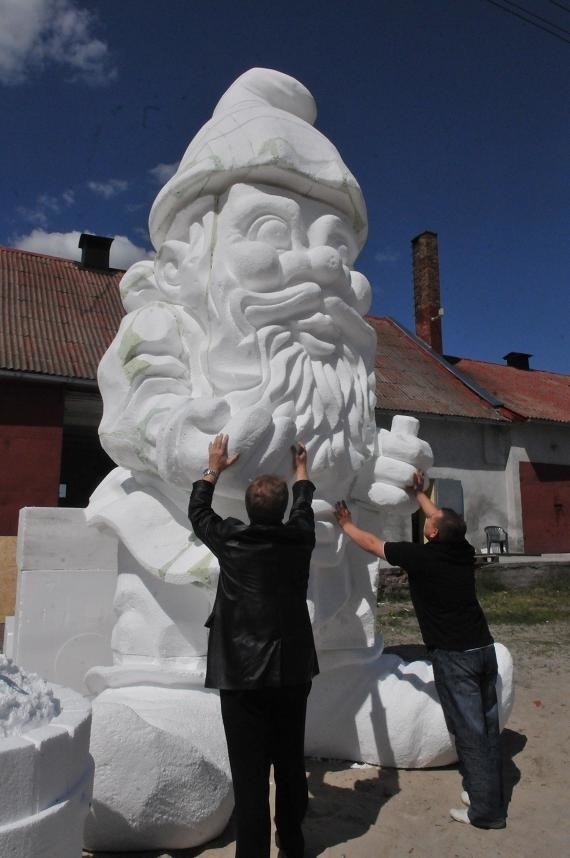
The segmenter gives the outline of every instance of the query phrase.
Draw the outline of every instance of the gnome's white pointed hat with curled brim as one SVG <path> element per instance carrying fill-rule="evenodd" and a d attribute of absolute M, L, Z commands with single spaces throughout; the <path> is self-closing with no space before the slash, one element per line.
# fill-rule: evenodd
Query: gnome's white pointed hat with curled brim
<path fill-rule="evenodd" d="M 317 109 L 299 81 L 273 69 L 250 69 L 224 93 L 152 206 L 153 244 L 188 240 L 189 206 L 236 182 L 294 191 L 344 212 L 362 246 L 366 206 L 337 149 L 313 128 Z"/>

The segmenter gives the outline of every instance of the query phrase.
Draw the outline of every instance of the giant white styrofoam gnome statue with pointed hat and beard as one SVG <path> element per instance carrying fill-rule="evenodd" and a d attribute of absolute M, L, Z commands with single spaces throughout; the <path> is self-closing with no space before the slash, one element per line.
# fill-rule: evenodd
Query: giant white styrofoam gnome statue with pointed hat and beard
<path fill-rule="evenodd" d="M 374 629 L 377 562 L 347 546 L 333 520 L 332 506 L 344 497 L 361 524 L 390 535 L 386 527 L 397 530 L 396 517 L 404 521 L 415 508 L 406 487 L 432 454 L 412 417 L 395 418 L 390 432 L 375 428 L 376 341 L 363 319 L 370 285 L 353 268 L 366 209 L 338 151 L 313 127 L 315 116 L 311 94 L 287 75 L 252 69 L 238 78 L 157 196 L 155 260 L 132 266 L 121 283 L 127 315 L 99 370 L 101 443 L 119 467 L 96 490 L 87 516 L 111 528 L 126 551 L 114 664 L 87 675 L 100 692 L 93 753 L 97 764 L 98 756 L 112 757 L 122 719 L 130 733 L 136 718 L 154 731 L 157 748 L 167 747 L 171 731 L 175 750 L 166 756 L 183 756 L 182 737 L 189 759 L 203 759 L 221 786 L 216 795 L 204 792 L 200 825 L 189 814 L 196 800 L 189 795 L 187 828 L 171 813 L 170 837 L 169 813 L 153 819 L 149 811 L 158 802 L 149 785 L 136 819 L 134 799 L 119 805 L 131 820 L 123 837 L 97 824 L 97 808 L 117 796 L 98 791 L 96 776 L 87 845 L 191 846 L 218 833 L 231 809 L 216 697 L 201 690 L 203 623 L 218 570 L 186 514 L 218 432 L 241 455 L 219 480 L 214 506 L 240 518 L 248 480 L 289 475 L 290 444 L 307 445 L 317 485 L 310 609 L 322 669 L 307 751 L 403 766 L 454 758 L 431 668 L 382 655 Z M 508 709 L 506 651 L 502 660 Z M 216 731 L 221 750 L 213 750 Z M 124 743 L 121 753 L 128 754 Z M 139 753 L 136 745 L 133 757 Z"/>

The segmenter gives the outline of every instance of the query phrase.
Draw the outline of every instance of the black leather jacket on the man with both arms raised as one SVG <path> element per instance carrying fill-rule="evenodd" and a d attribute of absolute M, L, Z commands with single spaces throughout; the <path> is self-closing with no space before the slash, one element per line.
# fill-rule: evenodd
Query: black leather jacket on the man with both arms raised
<path fill-rule="evenodd" d="M 308 480 L 294 484 L 285 524 L 244 524 L 212 510 L 212 483 L 194 483 L 188 515 L 196 536 L 220 562 L 206 622 L 207 688 L 297 685 L 319 672 L 306 602 L 314 490 Z"/>

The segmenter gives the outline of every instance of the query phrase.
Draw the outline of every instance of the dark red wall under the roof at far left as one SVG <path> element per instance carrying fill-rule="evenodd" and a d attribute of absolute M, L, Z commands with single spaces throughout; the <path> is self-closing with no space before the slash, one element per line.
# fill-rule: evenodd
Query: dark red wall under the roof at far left
<path fill-rule="evenodd" d="M 57 506 L 63 390 L 0 383 L 0 536 L 15 536 L 23 506 Z"/>

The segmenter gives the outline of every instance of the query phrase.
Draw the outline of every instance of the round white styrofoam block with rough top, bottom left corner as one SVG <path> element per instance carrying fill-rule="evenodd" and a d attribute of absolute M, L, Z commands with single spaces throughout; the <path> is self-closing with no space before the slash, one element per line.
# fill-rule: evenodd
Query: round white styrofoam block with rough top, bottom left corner
<path fill-rule="evenodd" d="M 91 709 L 0 654 L 0 855 L 81 858 Z"/>

